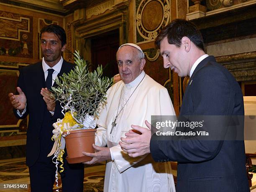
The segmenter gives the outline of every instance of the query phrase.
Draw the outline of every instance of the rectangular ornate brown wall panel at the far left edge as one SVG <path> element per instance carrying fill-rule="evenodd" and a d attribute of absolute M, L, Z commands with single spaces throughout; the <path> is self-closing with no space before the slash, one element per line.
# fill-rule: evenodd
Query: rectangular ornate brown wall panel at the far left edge
<path fill-rule="evenodd" d="M 33 58 L 33 17 L 0 11 L 0 55 Z"/>

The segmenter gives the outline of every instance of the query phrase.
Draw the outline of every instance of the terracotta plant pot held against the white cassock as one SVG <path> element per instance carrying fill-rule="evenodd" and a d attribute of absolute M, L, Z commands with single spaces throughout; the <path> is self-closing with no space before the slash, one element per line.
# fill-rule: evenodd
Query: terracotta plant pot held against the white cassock
<path fill-rule="evenodd" d="M 69 131 L 69 135 L 65 137 L 68 163 L 81 163 L 92 160 L 92 157 L 83 155 L 82 152 L 95 152 L 92 144 L 94 144 L 96 131 L 96 129 Z"/>

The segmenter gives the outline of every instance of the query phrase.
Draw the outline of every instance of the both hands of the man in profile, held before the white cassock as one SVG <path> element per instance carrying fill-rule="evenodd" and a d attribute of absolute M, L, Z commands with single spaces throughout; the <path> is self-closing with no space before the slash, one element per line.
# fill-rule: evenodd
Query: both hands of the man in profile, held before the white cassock
<path fill-rule="evenodd" d="M 126 138 L 121 137 L 122 142 L 119 142 L 119 145 L 130 157 L 150 153 L 151 125 L 148 121 L 145 121 L 145 123 L 149 129 L 138 125 L 131 126 L 133 130 L 141 132 L 141 134 L 129 131 L 129 133 L 125 133 Z"/>

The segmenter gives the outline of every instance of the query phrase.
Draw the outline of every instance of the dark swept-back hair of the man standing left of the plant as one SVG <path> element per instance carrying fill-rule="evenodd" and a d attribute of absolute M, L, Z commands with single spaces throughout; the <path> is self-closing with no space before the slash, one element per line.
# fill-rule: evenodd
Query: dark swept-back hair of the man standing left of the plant
<path fill-rule="evenodd" d="M 61 26 L 55 25 L 55 24 L 44 26 L 40 31 L 40 39 L 41 39 L 42 33 L 44 33 L 44 32 L 55 33 L 59 37 L 59 40 L 61 40 L 61 47 L 63 47 L 63 45 L 65 45 L 65 44 L 67 44 L 67 35 L 66 35 L 65 30 Z"/>

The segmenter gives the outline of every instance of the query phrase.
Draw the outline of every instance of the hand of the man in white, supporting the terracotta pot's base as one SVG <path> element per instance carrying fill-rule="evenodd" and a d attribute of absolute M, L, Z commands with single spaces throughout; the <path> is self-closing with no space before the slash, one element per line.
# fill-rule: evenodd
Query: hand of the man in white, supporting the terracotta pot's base
<path fill-rule="evenodd" d="M 92 144 L 92 147 L 97 151 L 95 153 L 82 152 L 83 155 L 92 157 L 92 160 L 84 162 L 84 164 L 92 165 L 106 160 L 111 160 L 110 149 L 108 147 L 99 147 Z"/>

